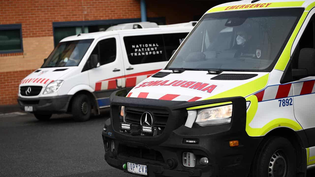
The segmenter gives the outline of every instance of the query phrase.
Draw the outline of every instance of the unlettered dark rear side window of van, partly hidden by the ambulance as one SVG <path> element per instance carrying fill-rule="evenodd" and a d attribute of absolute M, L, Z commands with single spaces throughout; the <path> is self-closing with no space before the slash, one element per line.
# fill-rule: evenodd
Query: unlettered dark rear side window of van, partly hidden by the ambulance
<path fill-rule="evenodd" d="M 188 32 L 163 34 L 166 60 L 171 58 L 173 50 L 176 50 L 179 47 L 187 35 Z"/>

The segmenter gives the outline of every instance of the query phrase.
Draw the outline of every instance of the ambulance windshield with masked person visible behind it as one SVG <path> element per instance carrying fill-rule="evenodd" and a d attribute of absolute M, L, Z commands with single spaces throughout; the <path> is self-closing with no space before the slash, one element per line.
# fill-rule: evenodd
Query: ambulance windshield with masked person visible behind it
<path fill-rule="evenodd" d="M 206 14 L 165 69 L 269 72 L 303 11 L 295 8 Z"/>

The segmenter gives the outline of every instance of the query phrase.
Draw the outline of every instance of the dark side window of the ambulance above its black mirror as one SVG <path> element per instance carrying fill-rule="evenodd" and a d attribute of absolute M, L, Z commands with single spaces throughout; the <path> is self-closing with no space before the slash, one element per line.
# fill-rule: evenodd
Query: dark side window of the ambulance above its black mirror
<path fill-rule="evenodd" d="M 313 48 L 314 49 L 314 15 L 311 20 L 308 22 L 299 43 L 296 46 L 295 54 L 292 58 L 292 67 L 294 69 L 298 66 L 298 59 L 301 49 L 304 48 Z"/>

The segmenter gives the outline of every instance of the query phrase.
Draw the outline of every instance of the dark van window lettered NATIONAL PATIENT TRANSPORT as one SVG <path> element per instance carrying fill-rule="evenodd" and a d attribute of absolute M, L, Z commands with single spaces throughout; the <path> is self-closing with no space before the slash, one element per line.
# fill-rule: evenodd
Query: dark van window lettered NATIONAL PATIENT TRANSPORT
<path fill-rule="evenodd" d="M 131 65 L 166 61 L 161 34 L 123 37 Z"/>

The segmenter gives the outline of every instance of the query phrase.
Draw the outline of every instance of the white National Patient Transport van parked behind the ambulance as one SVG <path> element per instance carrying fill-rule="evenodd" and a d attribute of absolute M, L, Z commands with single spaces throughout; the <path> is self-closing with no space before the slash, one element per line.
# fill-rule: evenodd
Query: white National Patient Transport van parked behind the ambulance
<path fill-rule="evenodd" d="M 20 108 L 39 120 L 72 113 L 85 121 L 99 114 L 110 106 L 113 91 L 130 90 L 161 70 L 193 26 L 166 27 L 125 24 L 64 38 L 43 66 L 20 82 Z"/>

